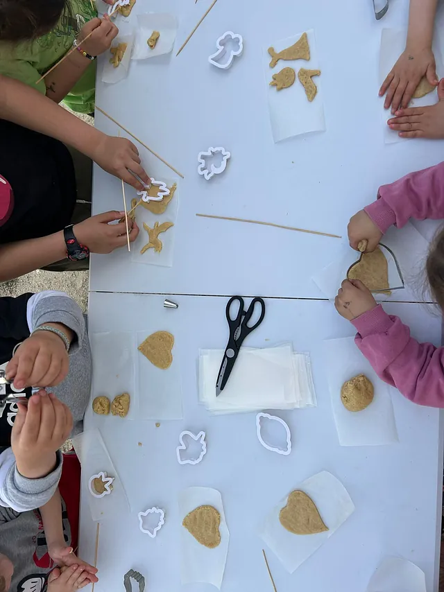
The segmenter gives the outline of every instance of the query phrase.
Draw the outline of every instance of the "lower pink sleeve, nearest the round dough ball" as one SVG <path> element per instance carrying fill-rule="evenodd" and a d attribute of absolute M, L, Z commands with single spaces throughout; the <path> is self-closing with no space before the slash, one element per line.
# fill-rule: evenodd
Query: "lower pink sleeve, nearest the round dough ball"
<path fill-rule="evenodd" d="M 352 324 L 358 331 L 355 343 L 379 378 L 413 403 L 444 408 L 443 347 L 418 343 L 380 304 Z"/>

